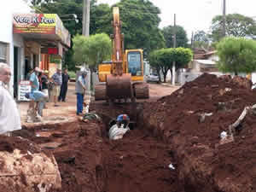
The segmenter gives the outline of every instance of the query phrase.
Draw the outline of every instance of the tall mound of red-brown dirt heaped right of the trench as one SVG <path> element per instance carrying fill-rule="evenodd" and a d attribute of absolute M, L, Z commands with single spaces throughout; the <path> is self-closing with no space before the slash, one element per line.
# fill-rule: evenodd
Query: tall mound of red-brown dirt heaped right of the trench
<path fill-rule="evenodd" d="M 234 142 L 219 145 L 220 133 L 256 103 L 248 84 L 247 79 L 203 74 L 144 105 L 143 127 L 175 148 L 185 191 L 256 191 L 255 114 L 247 114 Z"/>

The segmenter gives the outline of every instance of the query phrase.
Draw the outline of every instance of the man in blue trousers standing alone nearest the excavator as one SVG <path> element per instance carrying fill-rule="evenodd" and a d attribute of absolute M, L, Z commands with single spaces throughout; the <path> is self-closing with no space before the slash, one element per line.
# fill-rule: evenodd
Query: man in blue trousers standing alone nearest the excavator
<path fill-rule="evenodd" d="M 75 85 L 75 91 L 77 94 L 77 115 L 83 114 L 86 75 L 86 72 L 82 72 L 81 75 L 79 75 Z"/>

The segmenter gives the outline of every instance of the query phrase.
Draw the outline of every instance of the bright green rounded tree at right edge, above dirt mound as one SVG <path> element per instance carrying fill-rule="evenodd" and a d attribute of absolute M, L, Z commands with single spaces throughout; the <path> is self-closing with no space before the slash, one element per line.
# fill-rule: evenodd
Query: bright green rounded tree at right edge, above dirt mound
<path fill-rule="evenodd" d="M 222 72 L 252 73 L 256 70 L 256 43 L 246 38 L 224 38 L 217 44 L 218 69 Z"/>

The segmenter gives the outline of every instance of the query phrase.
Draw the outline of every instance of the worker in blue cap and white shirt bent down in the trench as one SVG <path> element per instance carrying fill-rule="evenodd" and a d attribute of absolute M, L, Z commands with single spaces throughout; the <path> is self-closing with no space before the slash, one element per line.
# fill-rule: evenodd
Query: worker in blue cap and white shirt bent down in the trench
<path fill-rule="evenodd" d="M 117 140 L 123 138 L 127 131 L 130 131 L 129 124 L 129 116 L 127 114 L 119 114 L 116 120 L 112 120 L 109 123 L 109 139 Z"/>

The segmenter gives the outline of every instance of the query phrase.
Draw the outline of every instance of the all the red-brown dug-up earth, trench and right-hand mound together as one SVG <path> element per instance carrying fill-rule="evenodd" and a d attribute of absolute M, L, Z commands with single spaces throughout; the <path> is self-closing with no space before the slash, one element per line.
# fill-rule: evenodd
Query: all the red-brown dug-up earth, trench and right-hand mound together
<path fill-rule="evenodd" d="M 157 102 L 112 108 L 92 103 L 102 121 L 26 127 L 21 135 L 55 155 L 58 192 L 254 192 L 255 113 L 236 129 L 235 141 L 219 143 L 220 132 L 256 103 L 247 85 L 244 79 L 202 75 Z M 111 141 L 108 123 L 119 113 L 137 124 Z M 212 115 L 201 119 L 204 113 Z"/>

